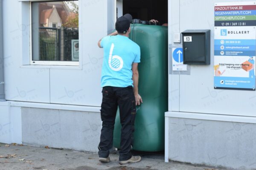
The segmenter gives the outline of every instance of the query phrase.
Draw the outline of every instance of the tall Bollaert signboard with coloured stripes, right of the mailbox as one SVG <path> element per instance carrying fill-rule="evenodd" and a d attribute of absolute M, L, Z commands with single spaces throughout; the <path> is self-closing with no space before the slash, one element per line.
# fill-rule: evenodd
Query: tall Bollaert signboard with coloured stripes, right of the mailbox
<path fill-rule="evenodd" d="M 214 88 L 255 91 L 256 5 L 216 3 Z"/>

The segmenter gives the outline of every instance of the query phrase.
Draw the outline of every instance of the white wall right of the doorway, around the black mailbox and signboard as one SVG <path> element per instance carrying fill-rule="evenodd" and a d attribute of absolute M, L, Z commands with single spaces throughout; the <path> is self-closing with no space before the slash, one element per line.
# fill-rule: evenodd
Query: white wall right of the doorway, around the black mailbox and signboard
<path fill-rule="evenodd" d="M 191 65 L 190 75 L 169 75 L 169 111 L 256 116 L 256 91 L 213 87 L 214 5 L 218 2 L 241 0 L 169 0 L 169 44 L 174 45 L 175 32 L 211 30 L 211 65 Z"/>

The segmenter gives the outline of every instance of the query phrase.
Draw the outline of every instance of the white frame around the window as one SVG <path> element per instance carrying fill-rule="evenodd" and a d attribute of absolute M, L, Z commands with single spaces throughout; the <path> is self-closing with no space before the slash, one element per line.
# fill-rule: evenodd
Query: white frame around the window
<path fill-rule="evenodd" d="M 30 23 L 30 35 L 29 35 L 29 45 L 30 45 L 30 65 L 59 65 L 59 66 L 79 66 L 79 62 L 81 62 L 81 48 L 79 49 L 79 61 L 36 61 L 32 60 L 32 2 L 45 2 L 49 0 L 20 0 L 20 1 L 29 1 L 29 23 Z M 53 0 L 52 0 L 53 1 Z M 54 0 L 57 1 L 57 0 Z M 64 0 L 58 0 L 58 1 L 64 1 Z M 79 6 L 80 6 L 80 1 L 79 1 Z M 80 40 L 81 40 L 81 35 L 80 35 L 80 17 L 81 17 L 81 10 L 79 8 L 79 46 L 81 45 Z M 80 46 L 81 47 L 81 46 Z"/>

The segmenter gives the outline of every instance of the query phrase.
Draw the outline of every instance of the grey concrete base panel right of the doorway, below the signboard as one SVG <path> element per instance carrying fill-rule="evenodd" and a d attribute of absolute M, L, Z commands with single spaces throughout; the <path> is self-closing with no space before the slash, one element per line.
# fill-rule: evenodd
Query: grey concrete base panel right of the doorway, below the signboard
<path fill-rule="evenodd" d="M 169 117 L 168 132 L 172 161 L 256 168 L 256 124 Z"/>

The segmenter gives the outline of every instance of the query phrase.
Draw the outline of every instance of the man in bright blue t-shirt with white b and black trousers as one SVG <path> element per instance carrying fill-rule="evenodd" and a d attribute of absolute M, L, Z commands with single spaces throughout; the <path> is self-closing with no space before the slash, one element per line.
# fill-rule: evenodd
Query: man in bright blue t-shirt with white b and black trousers
<path fill-rule="evenodd" d="M 101 162 L 110 161 L 109 150 L 113 147 L 117 107 L 122 124 L 119 163 L 135 163 L 141 160 L 140 156 L 131 155 L 136 105 L 143 102 L 138 93 L 140 47 L 128 38 L 131 20 L 130 14 L 119 17 L 116 20 L 116 32 L 98 42 L 99 48 L 104 48 L 101 77 L 102 131 L 98 152 Z"/>

